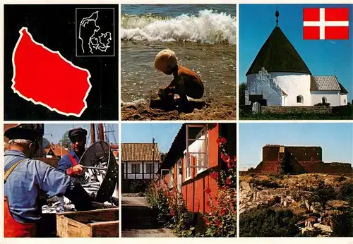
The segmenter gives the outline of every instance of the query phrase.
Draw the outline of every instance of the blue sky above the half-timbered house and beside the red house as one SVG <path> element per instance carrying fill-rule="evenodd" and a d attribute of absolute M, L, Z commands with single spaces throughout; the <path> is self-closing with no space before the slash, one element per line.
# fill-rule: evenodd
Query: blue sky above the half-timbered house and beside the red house
<path fill-rule="evenodd" d="M 121 142 L 149 142 L 152 138 L 158 143 L 160 152 L 168 152 L 181 123 L 122 123 Z"/>

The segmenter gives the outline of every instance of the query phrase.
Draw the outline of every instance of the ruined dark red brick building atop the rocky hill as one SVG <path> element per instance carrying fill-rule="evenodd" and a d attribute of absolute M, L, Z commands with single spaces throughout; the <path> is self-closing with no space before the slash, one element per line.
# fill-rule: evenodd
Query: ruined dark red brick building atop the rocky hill
<path fill-rule="evenodd" d="M 350 173 L 351 164 L 324 163 L 321 147 L 265 145 L 263 160 L 248 173 Z"/>

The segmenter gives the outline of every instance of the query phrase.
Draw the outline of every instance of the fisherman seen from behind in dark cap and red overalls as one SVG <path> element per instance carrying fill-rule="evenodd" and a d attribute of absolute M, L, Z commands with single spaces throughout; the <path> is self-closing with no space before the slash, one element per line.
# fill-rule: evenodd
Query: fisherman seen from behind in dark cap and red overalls
<path fill-rule="evenodd" d="M 42 161 L 31 159 L 39 149 L 37 130 L 19 125 L 9 128 L 5 151 L 4 237 L 35 237 L 42 217 L 39 197 L 43 193 L 67 197 L 78 210 L 92 209 L 85 190 L 64 173 Z"/>

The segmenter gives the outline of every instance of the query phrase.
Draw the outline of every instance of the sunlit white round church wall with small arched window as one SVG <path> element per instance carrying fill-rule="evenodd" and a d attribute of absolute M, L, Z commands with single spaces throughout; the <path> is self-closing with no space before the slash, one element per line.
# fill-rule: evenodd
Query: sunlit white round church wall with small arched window
<path fill-rule="evenodd" d="M 287 94 L 284 106 L 311 106 L 310 75 L 306 73 L 270 73 L 273 81 Z M 297 102 L 301 96 L 302 103 Z"/>

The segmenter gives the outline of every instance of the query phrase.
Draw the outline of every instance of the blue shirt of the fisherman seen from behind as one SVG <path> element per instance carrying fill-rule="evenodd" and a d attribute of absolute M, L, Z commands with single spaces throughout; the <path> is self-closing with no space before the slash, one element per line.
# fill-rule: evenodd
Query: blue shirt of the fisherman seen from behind
<path fill-rule="evenodd" d="M 47 197 L 61 196 L 70 184 L 70 177 L 42 161 L 29 159 L 23 152 L 6 150 L 6 165 L 24 159 L 16 166 L 4 185 L 4 195 L 8 197 L 13 219 L 20 223 L 33 223 L 40 219 L 42 206 L 37 197 L 44 193 Z"/>

